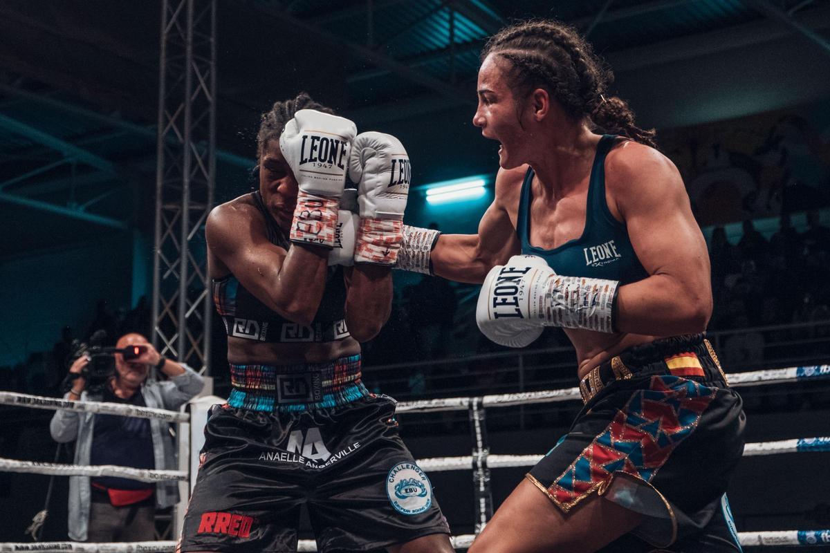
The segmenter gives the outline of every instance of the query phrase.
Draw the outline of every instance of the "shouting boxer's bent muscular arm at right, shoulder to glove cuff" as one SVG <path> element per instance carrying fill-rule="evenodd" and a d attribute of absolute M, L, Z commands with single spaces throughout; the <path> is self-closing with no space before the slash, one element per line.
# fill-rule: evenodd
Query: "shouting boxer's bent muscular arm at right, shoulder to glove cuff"
<path fill-rule="evenodd" d="M 712 313 L 709 254 L 680 173 L 651 148 L 625 148 L 632 150 L 629 155 L 609 155 L 606 167 L 634 250 L 650 276 L 620 287 L 618 330 L 652 336 L 702 332 Z"/>

